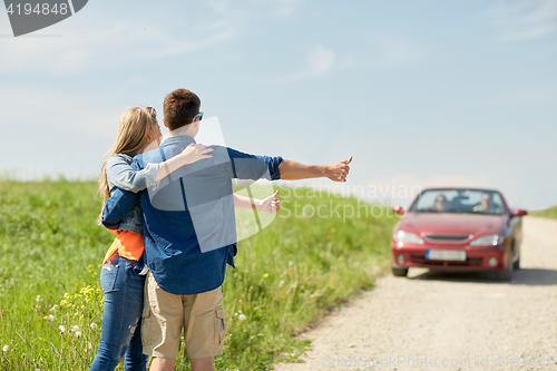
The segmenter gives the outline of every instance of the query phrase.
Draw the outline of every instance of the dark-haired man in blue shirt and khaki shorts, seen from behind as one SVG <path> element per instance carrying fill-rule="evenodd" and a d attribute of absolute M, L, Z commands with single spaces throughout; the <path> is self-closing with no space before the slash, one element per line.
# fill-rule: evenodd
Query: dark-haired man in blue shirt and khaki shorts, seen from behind
<path fill-rule="evenodd" d="M 160 148 L 137 156 L 139 167 L 178 155 L 199 130 L 201 100 L 178 89 L 164 101 L 170 130 Z M 159 187 L 143 192 L 145 284 L 141 324 L 150 370 L 174 370 L 182 329 L 194 371 L 214 370 L 223 353 L 225 315 L 222 283 L 234 266 L 236 232 L 232 180 L 329 177 L 345 182 L 351 157 L 333 165 L 304 165 L 214 146 L 213 157 L 185 166 Z"/>

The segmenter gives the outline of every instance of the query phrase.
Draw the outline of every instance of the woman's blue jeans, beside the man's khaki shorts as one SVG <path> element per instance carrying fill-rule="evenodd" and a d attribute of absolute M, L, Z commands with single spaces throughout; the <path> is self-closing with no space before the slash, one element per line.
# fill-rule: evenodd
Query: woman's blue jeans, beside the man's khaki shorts
<path fill-rule="evenodd" d="M 123 357 L 124 370 L 146 370 L 148 357 L 143 354 L 140 329 L 145 275 L 138 275 L 135 264 L 120 256 L 100 270 L 105 307 L 90 371 L 114 370 Z"/>

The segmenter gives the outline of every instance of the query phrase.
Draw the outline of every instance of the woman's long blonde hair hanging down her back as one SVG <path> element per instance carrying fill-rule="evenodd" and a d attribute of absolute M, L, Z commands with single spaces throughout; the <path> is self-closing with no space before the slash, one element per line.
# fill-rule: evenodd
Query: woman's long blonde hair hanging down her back
<path fill-rule="evenodd" d="M 136 155 L 145 147 L 148 135 L 150 133 L 156 133 L 153 130 L 156 130 L 157 125 L 157 111 L 153 107 L 131 107 L 121 114 L 116 141 L 102 156 L 105 162 L 100 167 L 99 178 L 99 194 L 102 198 L 102 208 L 105 208 L 105 202 L 110 197 L 110 188 L 108 187 L 106 175 L 106 163 L 108 158 L 115 154 L 128 156 Z"/>

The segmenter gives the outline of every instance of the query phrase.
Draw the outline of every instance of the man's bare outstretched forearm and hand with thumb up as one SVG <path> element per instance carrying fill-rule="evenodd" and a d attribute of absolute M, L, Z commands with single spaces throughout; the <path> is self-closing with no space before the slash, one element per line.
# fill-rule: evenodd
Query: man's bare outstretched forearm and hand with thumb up
<path fill-rule="evenodd" d="M 350 172 L 349 164 L 351 162 L 352 156 L 349 159 L 332 165 L 305 165 L 283 159 L 278 165 L 278 172 L 283 180 L 328 177 L 333 182 L 346 182 L 346 176 Z"/>

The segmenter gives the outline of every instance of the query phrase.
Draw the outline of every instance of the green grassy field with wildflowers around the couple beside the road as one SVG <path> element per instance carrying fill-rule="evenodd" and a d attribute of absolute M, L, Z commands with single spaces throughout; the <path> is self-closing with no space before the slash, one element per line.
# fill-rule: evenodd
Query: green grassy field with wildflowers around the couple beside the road
<path fill-rule="evenodd" d="M 95 189 L 0 182 L 0 370 L 89 369 L 101 324 L 98 272 L 113 241 L 96 225 Z M 385 209 L 311 189 L 294 197 L 285 188 L 280 198 L 275 221 L 240 243 L 236 270 L 227 270 L 218 370 L 295 360 L 309 344 L 292 334 L 388 267 L 397 218 L 379 216 Z M 184 350 L 176 369 L 189 370 Z"/>

